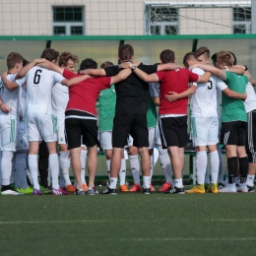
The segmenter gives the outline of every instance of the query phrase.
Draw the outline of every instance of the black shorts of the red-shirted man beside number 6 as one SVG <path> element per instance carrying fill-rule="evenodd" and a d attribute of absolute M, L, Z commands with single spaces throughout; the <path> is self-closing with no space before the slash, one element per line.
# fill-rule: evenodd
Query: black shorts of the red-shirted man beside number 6
<path fill-rule="evenodd" d="M 96 119 L 89 118 L 96 118 L 96 116 L 83 113 L 74 117 L 73 110 L 66 112 L 65 132 L 69 150 L 81 147 L 82 143 L 89 148 L 96 145 L 99 147 Z"/>

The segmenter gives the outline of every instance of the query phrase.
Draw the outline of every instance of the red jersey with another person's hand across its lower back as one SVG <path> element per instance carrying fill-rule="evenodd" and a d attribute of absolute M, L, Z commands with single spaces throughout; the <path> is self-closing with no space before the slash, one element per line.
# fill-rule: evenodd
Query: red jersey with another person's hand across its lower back
<path fill-rule="evenodd" d="M 156 74 L 160 79 L 160 115 L 187 114 L 188 97 L 167 101 L 164 96 L 169 92 L 183 93 L 188 89 L 189 82 L 197 82 L 199 76 L 187 69 L 159 71 Z"/>

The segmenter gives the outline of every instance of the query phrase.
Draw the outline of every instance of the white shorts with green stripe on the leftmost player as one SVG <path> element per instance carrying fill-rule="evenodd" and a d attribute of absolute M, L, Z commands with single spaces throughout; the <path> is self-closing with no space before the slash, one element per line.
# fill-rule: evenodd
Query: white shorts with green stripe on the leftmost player
<path fill-rule="evenodd" d="M 10 116 L 0 117 L 1 151 L 16 151 L 17 119 Z"/>

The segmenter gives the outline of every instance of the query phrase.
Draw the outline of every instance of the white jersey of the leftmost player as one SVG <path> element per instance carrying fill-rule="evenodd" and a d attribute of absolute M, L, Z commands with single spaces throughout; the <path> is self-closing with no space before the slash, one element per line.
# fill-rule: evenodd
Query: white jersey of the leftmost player
<path fill-rule="evenodd" d="M 10 82 L 15 82 L 15 76 L 16 74 L 8 74 L 7 75 L 7 79 Z M 20 92 L 20 87 L 23 84 L 19 85 L 18 88 L 10 91 L 8 90 L 3 81 L 0 78 L 0 96 L 2 98 L 2 101 L 4 102 L 4 104 L 6 104 L 7 106 L 9 106 L 11 108 L 11 111 L 9 113 L 5 113 L 3 111 L 0 111 L 0 116 L 12 116 L 12 118 L 16 118 L 19 114 L 19 92 Z"/>

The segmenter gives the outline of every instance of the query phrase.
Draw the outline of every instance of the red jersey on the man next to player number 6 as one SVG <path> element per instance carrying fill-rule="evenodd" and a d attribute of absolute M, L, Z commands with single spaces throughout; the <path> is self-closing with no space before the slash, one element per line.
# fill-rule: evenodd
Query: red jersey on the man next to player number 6
<path fill-rule="evenodd" d="M 64 69 L 63 77 L 71 79 L 82 76 Z M 111 87 L 111 77 L 89 78 L 69 87 L 69 101 L 66 111 L 70 109 L 85 111 L 96 115 L 96 100 L 100 91 Z"/>

